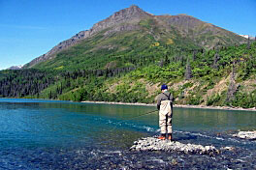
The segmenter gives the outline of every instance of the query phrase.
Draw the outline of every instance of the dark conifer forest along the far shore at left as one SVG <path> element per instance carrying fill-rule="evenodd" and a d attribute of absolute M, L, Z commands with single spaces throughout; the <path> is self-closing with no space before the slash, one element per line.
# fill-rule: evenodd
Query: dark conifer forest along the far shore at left
<path fill-rule="evenodd" d="M 57 99 L 63 92 L 84 86 L 83 82 L 89 82 L 95 77 L 105 77 L 106 79 L 133 70 L 135 68 L 127 67 L 96 71 L 42 71 L 35 69 L 0 71 L 0 97 L 40 98 L 41 93 L 52 85 L 56 88 L 50 90 L 46 97 Z M 77 79 L 81 79 L 82 82 L 77 82 Z"/>

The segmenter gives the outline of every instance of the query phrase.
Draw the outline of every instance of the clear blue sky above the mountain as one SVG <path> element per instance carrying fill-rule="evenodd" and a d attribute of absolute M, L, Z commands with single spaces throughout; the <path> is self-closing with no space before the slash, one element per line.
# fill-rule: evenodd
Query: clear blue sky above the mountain
<path fill-rule="evenodd" d="M 189 14 L 256 35 L 256 0 L 0 0 L 0 70 L 26 64 L 131 5 L 156 15 Z"/>

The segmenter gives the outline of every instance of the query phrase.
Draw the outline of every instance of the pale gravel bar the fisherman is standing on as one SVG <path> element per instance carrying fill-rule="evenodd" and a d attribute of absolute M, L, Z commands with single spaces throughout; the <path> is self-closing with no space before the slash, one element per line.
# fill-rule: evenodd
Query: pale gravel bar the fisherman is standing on
<path fill-rule="evenodd" d="M 131 151 L 164 151 L 164 152 L 181 152 L 185 154 L 202 154 L 212 155 L 219 154 L 214 146 L 202 146 L 195 144 L 183 144 L 176 141 L 160 140 L 154 137 L 140 139 L 133 145 Z"/>

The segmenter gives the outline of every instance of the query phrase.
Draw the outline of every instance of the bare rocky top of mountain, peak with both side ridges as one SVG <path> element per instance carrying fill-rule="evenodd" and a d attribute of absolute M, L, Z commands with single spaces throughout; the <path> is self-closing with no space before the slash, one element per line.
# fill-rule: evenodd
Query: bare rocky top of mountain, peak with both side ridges
<path fill-rule="evenodd" d="M 71 39 L 58 43 L 46 54 L 35 58 L 28 64 L 24 65 L 23 69 L 32 68 L 38 63 L 52 59 L 58 52 L 80 43 L 82 40 L 93 37 L 95 34 L 106 29 L 108 30 L 106 30 L 104 36 L 121 31 L 143 30 L 139 23 L 144 19 L 153 20 L 156 24 L 155 27 L 158 27 L 163 31 L 161 34 L 172 34 L 172 31 L 175 28 L 176 32 L 183 39 L 190 39 L 194 41 L 195 44 L 206 48 L 211 48 L 218 42 L 224 44 L 246 42 L 246 39 L 237 34 L 203 22 L 190 15 L 152 15 L 144 12 L 138 6 L 131 6 L 130 8 L 116 12 L 110 17 L 94 24 L 91 29 L 80 31 L 80 33 L 73 36 Z M 161 38 L 161 34 L 157 34 L 153 30 L 149 31 L 149 34 L 152 35 L 156 41 Z M 205 39 L 205 36 L 208 34 L 212 35 L 211 38 Z M 223 39 L 227 39 L 229 41 L 225 42 Z"/>

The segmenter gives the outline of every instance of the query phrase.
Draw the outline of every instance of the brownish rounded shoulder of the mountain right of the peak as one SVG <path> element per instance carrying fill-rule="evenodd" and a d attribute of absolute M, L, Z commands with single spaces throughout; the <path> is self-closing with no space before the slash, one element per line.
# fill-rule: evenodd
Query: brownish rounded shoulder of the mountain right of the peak
<path fill-rule="evenodd" d="M 205 46 L 206 48 L 212 48 L 216 44 L 225 44 L 224 39 L 229 40 L 230 43 L 233 44 L 245 42 L 244 39 L 239 39 L 240 35 L 217 27 L 211 23 L 204 22 L 191 15 L 162 15 L 158 16 L 158 18 L 166 22 L 169 26 L 175 27 L 183 38 L 190 38 L 195 43 Z M 213 45 L 208 44 L 208 42 L 211 41 L 207 39 L 207 34 L 211 35 L 211 41 L 214 42 Z"/>

